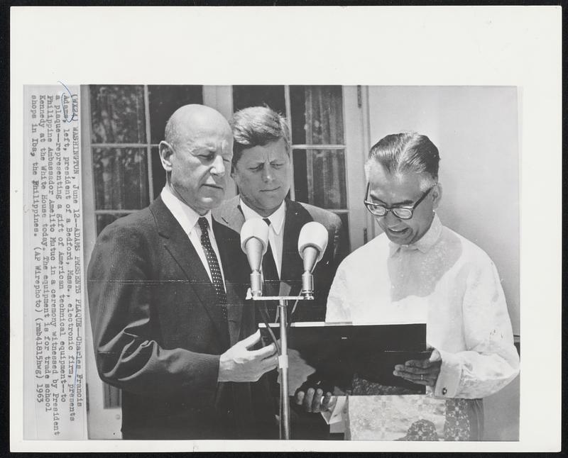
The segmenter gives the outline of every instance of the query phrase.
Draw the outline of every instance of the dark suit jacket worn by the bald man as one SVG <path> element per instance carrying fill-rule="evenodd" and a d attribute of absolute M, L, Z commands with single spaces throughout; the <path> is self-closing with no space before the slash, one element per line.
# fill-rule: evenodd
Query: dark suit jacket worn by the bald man
<path fill-rule="evenodd" d="M 87 284 L 94 351 L 101 378 L 122 389 L 125 438 L 263 437 L 256 425 L 273 421 L 262 386 L 217 382 L 219 355 L 255 326 L 253 308 L 241 299 L 248 274 L 239 234 L 215 220 L 212 230 L 227 320 L 195 248 L 161 198 L 99 235 Z"/>

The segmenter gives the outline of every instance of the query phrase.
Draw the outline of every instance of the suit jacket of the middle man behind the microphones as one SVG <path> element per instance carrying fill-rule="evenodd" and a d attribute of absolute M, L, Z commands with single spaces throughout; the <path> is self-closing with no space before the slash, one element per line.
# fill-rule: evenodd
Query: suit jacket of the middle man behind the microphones
<path fill-rule="evenodd" d="M 213 211 L 215 218 L 237 233 L 241 232 L 245 218 L 239 205 L 239 196 L 224 202 Z M 314 301 L 300 301 L 293 315 L 294 321 L 324 321 L 327 294 L 332 284 L 339 262 L 346 255 L 346 240 L 342 230 L 342 221 L 335 213 L 308 203 L 285 199 L 286 213 L 284 220 L 283 253 L 280 269 L 280 282 L 290 285 L 290 296 L 300 294 L 302 257 L 297 252 L 297 239 L 305 223 L 317 221 L 327 229 L 328 243 L 322 260 L 314 269 Z M 249 270 L 248 264 L 245 269 Z M 249 281 L 247 279 L 247 281 Z"/>

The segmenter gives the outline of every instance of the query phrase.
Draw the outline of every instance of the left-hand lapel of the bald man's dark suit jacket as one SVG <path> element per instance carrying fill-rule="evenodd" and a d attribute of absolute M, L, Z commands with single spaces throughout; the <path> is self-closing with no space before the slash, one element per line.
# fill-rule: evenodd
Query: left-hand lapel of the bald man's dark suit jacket
<path fill-rule="evenodd" d="M 185 273 L 190 286 L 200 299 L 201 306 L 212 320 L 219 341 L 226 347 L 229 342 L 223 311 L 217 305 L 217 294 L 195 247 L 161 198 L 156 199 L 150 208 L 158 225 L 158 233 L 162 237 L 165 250 Z"/>

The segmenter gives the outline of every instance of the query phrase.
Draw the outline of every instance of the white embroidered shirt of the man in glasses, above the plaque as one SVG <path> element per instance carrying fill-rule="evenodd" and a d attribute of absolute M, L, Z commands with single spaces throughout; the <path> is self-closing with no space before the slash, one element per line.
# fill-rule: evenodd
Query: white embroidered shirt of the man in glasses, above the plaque
<path fill-rule="evenodd" d="M 413 320 L 427 323 L 432 359 L 442 358 L 435 396 L 484 398 L 518 374 L 495 265 L 437 215 L 413 245 L 395 245 L 383 233 L 352 252 L 327 299 L 327 322 Z"/>

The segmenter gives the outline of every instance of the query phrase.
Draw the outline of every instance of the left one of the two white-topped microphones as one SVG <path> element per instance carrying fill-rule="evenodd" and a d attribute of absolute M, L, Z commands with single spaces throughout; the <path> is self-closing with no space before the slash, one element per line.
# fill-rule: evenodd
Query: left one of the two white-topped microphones
<path fill-rule="evenodd" d="M 241 250 L 251 266 L 251 295 L 262 296 L 261 263 L 268 248 L 268 225 L 261 218 L 246 220 L 241 228 Z"/>

